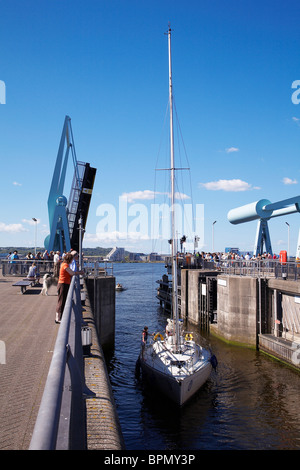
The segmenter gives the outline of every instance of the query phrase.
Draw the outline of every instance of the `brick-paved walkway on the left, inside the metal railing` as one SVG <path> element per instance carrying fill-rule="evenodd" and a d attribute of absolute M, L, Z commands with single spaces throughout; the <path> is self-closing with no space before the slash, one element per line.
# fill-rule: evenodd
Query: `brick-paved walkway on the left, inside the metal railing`
<path fill-rule="evenodd" d="M 52 359 L 59 325 L 54 322 L 56 287 L 21 294 L 12 284 L 22 278 L 0 277 L 0 449 L 28 449 Z"/>

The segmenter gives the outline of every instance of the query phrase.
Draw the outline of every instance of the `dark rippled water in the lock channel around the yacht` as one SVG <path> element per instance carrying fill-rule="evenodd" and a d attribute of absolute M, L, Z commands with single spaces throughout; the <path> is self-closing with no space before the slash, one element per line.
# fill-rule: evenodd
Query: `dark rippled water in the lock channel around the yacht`
<path fill-rule="evenodd" d="M 202 339 L 218 368 L 178 411 L 135 378 L 141 332 L 164 331 L 163 264 L 116 264 L 116 342 L 109 374 L 127 450 L 300 449 L 300 374 L 262 353 Z M 195 332 L 197 333 L 197 332 Z"/>

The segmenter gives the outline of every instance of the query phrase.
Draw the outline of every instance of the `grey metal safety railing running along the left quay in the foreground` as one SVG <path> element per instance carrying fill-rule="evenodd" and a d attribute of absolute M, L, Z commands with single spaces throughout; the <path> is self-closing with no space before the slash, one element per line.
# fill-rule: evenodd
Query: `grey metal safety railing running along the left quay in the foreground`
<path fill-rule="evenodd" d="M 73 276 L 53 351 L 30 450 L 86 449 L 86 387 L 80 280 Z"/>

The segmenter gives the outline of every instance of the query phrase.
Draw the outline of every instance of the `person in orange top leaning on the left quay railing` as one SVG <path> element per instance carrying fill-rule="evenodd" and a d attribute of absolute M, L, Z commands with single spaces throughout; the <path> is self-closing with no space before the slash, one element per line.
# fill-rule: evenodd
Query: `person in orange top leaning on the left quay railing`
<path fill-rule="evenodd" d="M 72 260 L 73 256 L 70 253 L 67 253 L 63 259 L 63 262 L 61 263 L 57 285 L 58 299 L 56 306 L 55 323 L 61 322 L 61 317 L 65 308 L 65 303 L 67 300 L 72 276 L 75 276 L 77 274 L 83 274 L 82 271 L 72 271 L 69 266 Z"/>

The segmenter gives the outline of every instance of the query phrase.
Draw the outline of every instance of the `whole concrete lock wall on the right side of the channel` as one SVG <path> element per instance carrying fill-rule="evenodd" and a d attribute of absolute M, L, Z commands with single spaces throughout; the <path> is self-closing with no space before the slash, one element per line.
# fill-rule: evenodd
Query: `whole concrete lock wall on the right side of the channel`
<path fill-rule="evenodd" d="M 180 288 L 181 316 L 201 330 L 288 363 L 300 350 L 300 282 L 183 269 Z"/>

